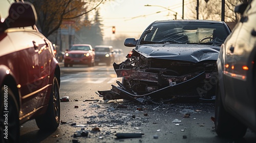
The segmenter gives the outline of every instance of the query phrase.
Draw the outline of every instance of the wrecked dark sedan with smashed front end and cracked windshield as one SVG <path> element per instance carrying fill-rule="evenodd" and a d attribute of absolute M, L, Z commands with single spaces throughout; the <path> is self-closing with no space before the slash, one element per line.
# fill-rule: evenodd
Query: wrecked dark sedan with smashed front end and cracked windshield
<path fill-rule="evenodd" d="M 127 38 L 132 54 L 114 63 L 118 86 L 99 91 L 103 100 L 129 99 L 144 103 L 154 99 L 215 96 L 216 61 L 220 46 L 231 30 L 222 21 L 155 21 L 141 37 Z"/>

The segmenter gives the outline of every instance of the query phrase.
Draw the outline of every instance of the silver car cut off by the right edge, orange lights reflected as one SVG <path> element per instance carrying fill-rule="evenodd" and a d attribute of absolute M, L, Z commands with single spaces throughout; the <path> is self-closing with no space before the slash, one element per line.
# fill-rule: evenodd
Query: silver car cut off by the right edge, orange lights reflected
<path fill-rule="evenodd" d="M 223 137 L 243 137 L 247 127 L 256 132 L 256 1 L 237 6 L 235 12 L 242 18 L 217 60 L 215 130 Z"/>

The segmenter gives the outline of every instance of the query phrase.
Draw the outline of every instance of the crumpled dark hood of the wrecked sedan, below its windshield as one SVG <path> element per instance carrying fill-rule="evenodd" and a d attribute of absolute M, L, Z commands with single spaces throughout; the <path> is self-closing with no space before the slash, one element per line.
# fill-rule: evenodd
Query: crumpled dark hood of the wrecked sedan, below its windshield
<path fill-rule="evenodd" d="M 135 51 L 146 58 L 200 62 L 217 60 L 220 46 L 206 44 L 143 44 Z"/>

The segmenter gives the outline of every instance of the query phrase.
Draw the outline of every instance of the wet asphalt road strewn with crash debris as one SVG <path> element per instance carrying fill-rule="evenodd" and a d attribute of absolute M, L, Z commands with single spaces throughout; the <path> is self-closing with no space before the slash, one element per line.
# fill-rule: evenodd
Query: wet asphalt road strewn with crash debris
<path fill-rule="evenodd" d="M 34 120 L 29 121 L 20 127 L 20 141 L 250 143 L 256 140 L 255 133 L 250 130 L 242 139 L 218 137 L 210 120 L 214 116 L 214 103 L 179 101 L 140 105 L 123 100 L 104 102 L 95 92 L 111 89 L 116 80 L 121 79 L 116 78 L 112 66 L 61 67 L 60 97 L 70 97 L 70 102 L 60 104 L 60 120 L 65 124 L 60 124 L 55 132 L 42 132 Z M 183 117 L 185 113 L 190 116 Z M 88 136 L 75 137 L 82 128 Z M 143 135 L 117 138 L 117 133 Z"/>

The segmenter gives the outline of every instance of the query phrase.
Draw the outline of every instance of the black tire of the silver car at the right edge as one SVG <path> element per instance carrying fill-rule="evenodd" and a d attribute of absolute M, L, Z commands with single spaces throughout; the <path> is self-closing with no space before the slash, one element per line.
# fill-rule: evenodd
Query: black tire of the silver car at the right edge
<path fill-rule="evenodd" d="M 215 105 L 215 131 L 220 137 L 241 138 L 245 135 L 247 127 L 243 125 L 236 117 L 228 113 L 224 106 L 220 95 L 219 84 L 216 90 Z"/>

